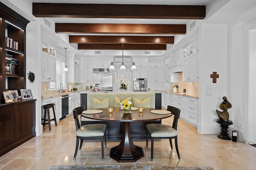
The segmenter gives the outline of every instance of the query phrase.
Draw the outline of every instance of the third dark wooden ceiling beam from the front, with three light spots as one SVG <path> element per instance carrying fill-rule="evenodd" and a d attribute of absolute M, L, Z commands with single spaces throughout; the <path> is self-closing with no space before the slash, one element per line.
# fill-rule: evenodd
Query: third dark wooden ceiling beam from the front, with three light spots
<path fill-rule="evenodd" d="M 70 43 L 104 43 L 104 44 L 174 44 L 174 36 L 101 36 L 69 35 Z"/>

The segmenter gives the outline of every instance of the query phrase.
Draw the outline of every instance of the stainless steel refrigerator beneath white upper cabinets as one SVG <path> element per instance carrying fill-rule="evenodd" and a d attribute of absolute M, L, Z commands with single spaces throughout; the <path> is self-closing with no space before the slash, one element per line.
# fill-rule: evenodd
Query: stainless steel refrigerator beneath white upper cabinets
<path fill-rule="evenodd" d="M 100 86 L 102 92 L 113 92 L 113 73 L 108 69 L 93 68 L 93 86 Z"/>

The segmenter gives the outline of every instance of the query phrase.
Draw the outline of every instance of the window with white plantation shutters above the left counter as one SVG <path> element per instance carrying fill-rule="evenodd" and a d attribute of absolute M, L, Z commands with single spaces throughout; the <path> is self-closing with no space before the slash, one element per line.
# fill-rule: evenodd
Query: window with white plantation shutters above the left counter
<path fill-rule="evenodd" d="M 60 83 L 63 89 L 66 88 L 66 72 L 63 71 L 65 63 L 56 59 L 56 82 L 50 82 L 50 90 L 60 90 Z"/>

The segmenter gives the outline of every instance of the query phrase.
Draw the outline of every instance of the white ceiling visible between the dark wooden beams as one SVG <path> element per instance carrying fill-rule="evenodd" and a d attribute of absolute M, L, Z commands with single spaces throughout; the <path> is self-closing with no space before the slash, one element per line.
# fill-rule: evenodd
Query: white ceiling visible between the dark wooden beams
<path fill-rule="evenodd" d="M 206 5 L 210 0 L 30 0 L 37 3 L 81 3 L 81 4 L 154 4 L 154 5 Z M 171 19 L 126 19 L 126 18 L 50 18 L 55 23 L 142 23 L 142 24 L 187 24 L 190 20 Z M 96 35 L 96 34 L 68 34 L 68 35 Z M 97 34 L 124 35 L 124 34 Z M 136 34 L 132 34 L 136 35 Z M 130 34 L 130 36 L 132 36 Z M 147 35 L 144 35 L 147 36 Z M 158 35 L 148 35 L 158 36 Z M 159 35 L 175 36 L 175 35 Z M 76 45 L 72 45 L 76 48 Z M 81 50 L 79 50 L 82 52 Z M 83 50 L 82 53 L 85 53 Z"/>

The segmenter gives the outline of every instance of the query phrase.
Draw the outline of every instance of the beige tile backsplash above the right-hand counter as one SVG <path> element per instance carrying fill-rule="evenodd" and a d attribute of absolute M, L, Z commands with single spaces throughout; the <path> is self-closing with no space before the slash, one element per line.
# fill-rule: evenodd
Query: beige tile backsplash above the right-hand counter
<path fill-rule="evenodd" d="M 183 92 L 183 89 L 186 89 L 186 93 L 191 93 L 191 94 L 195 94 L 196 96 L 199 96 L 199 81 L 183 82 L 182 72 L 179 73 L 179 82 L 171 84 L 171 91 L 173 91 L 174 85 L 178 85 L 177 92 Z"/>

